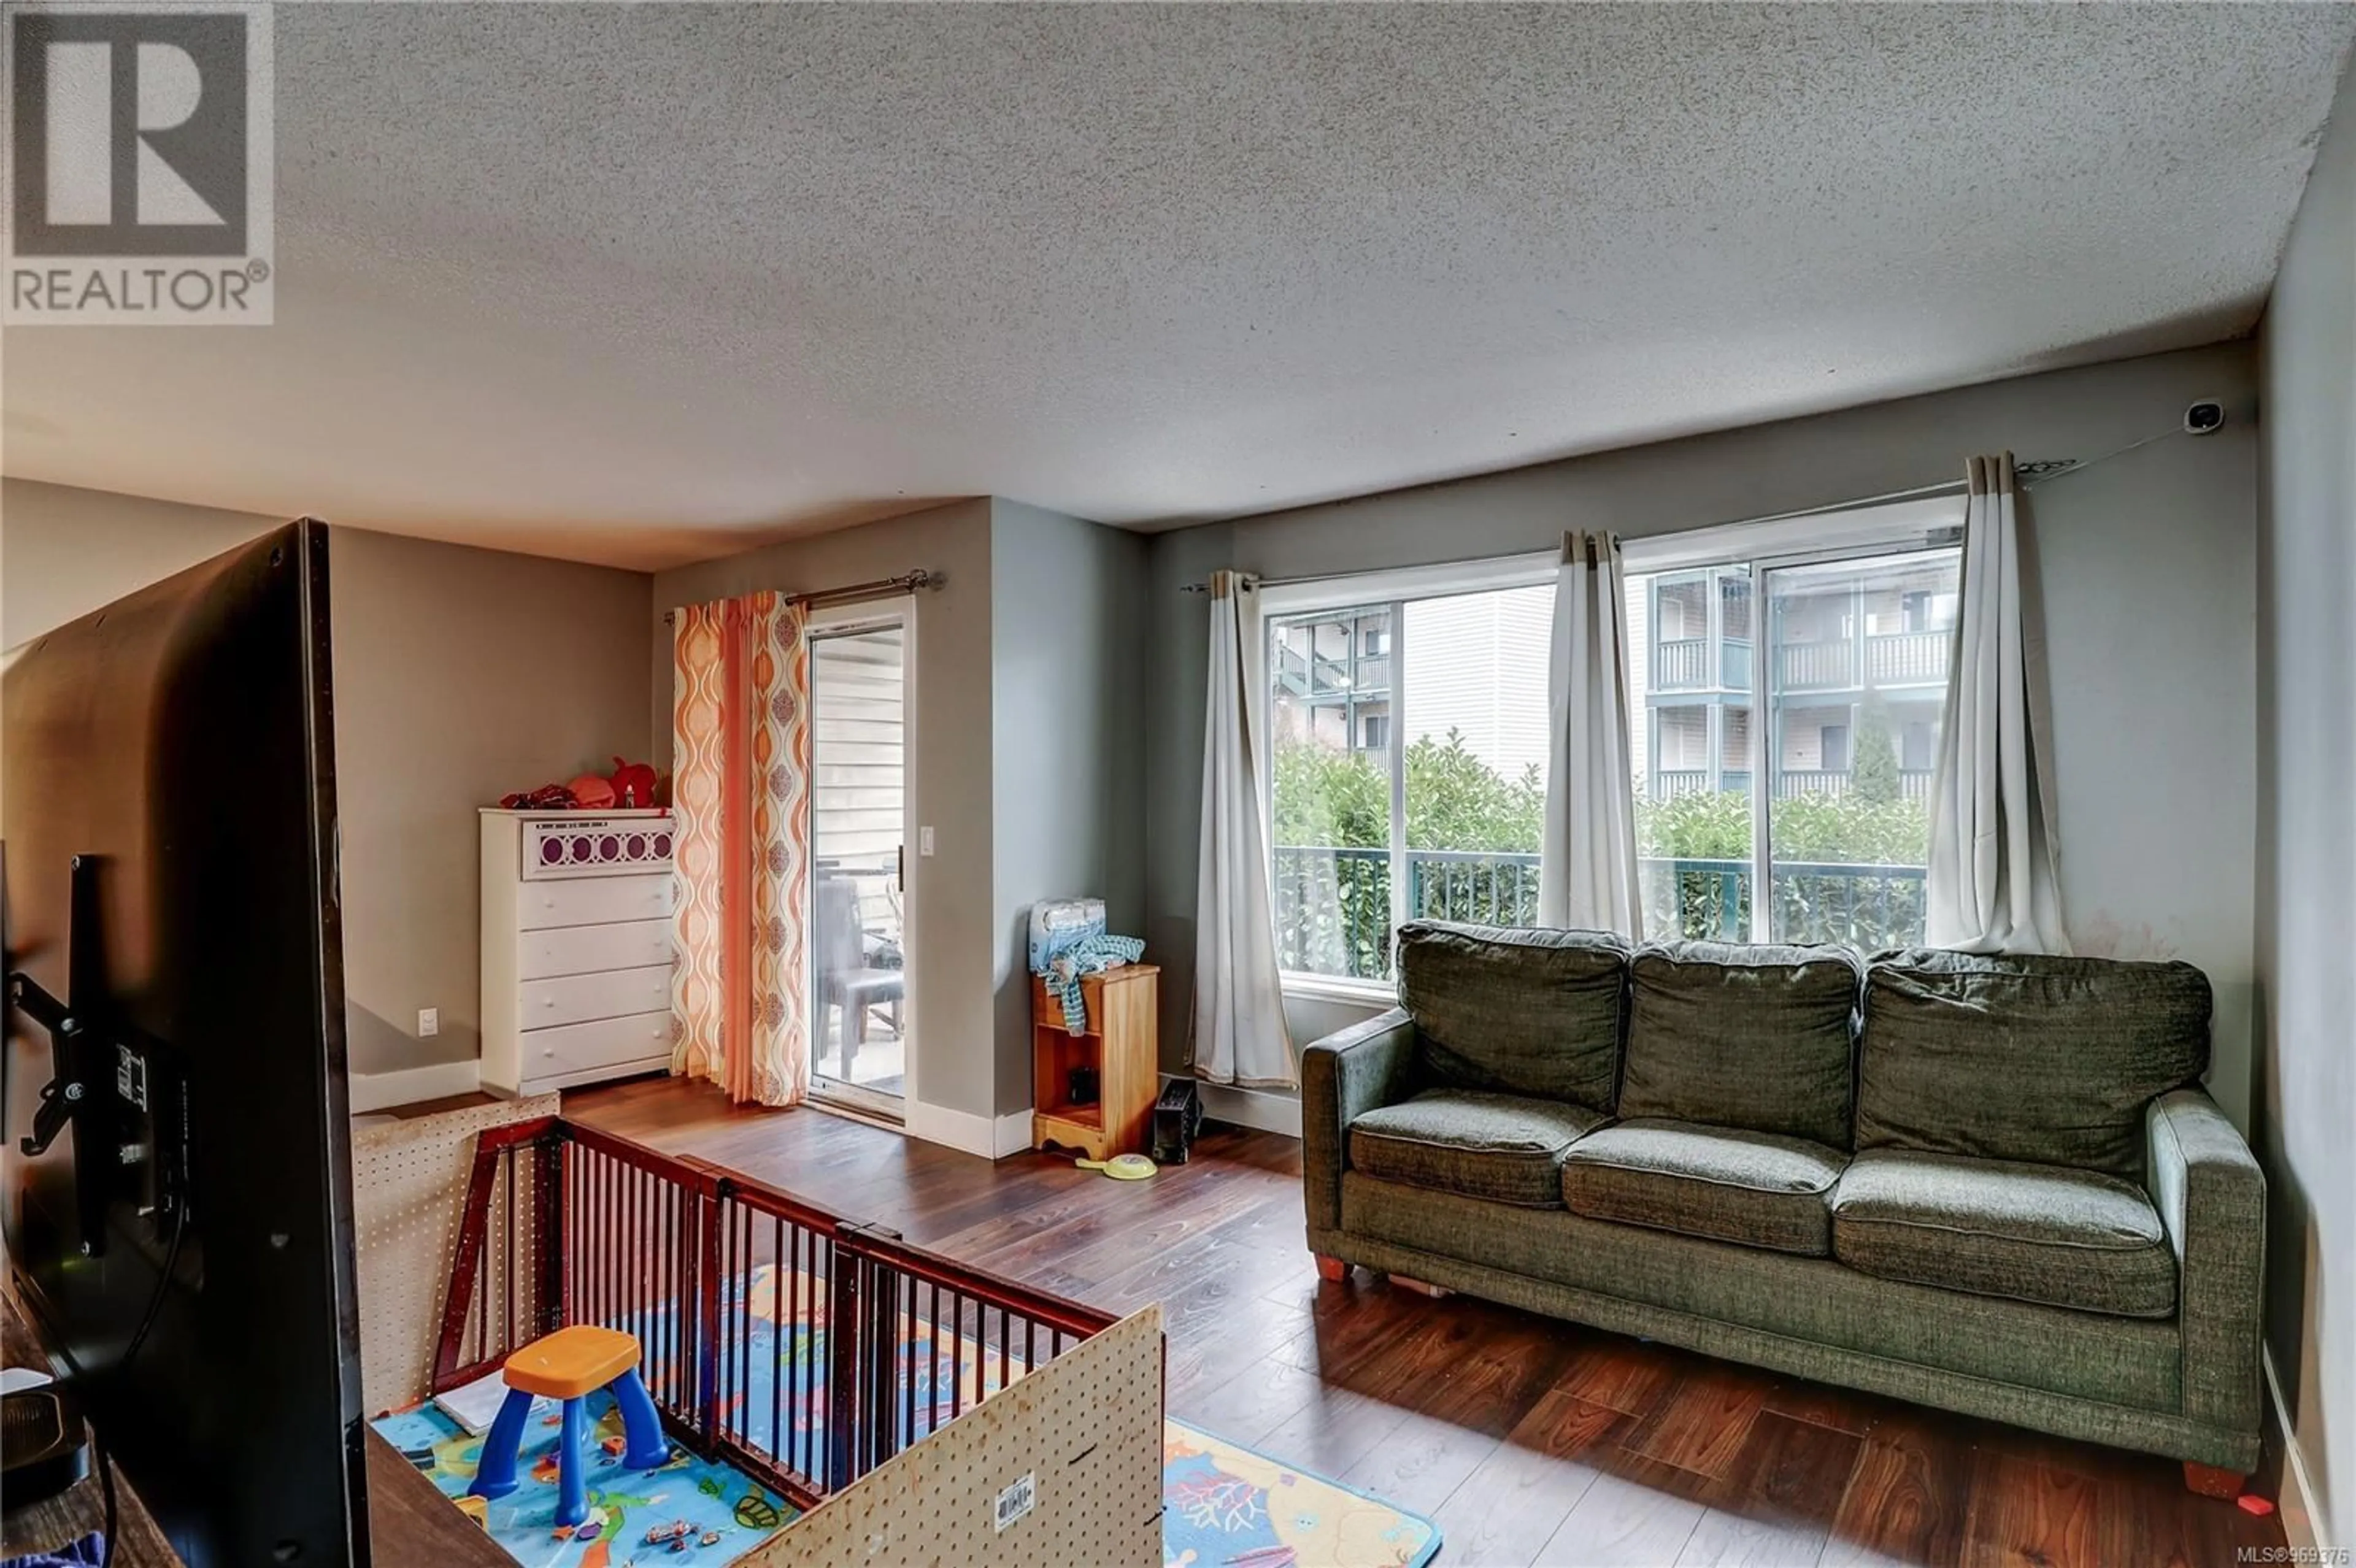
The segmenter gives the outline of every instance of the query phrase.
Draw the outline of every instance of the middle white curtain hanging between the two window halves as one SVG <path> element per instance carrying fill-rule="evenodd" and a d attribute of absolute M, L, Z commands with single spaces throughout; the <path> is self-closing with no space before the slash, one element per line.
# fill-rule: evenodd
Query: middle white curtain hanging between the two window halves
<path fill-rule="evenodd" d="M 1562 537 L 1548 657 L 1538 923 L 1644 935 L 1628 746 L 1628 598 L 1614 534 Z"/>

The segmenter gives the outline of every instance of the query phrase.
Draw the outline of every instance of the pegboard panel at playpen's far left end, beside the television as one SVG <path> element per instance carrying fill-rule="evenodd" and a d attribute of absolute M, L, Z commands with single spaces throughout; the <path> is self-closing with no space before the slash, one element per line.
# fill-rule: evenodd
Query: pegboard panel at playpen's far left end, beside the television
<path fill-rule="evenodd" d="M 443 1295 L 450 1290 L 450 1260 L 457 1253 L 459 1210 L 474 1170 L 474 1135 L 558 1111 L 558 1095 L 535 1095 L 351 1130 L 360 1401 L 370 1415 L 415 1406 L 426 1396 Z M 530 1151 L 518 1151 L 516 1168 L 525 1180 L 532 1158 Z M 514 1290 L 504 1290 L 509 1260 L 528 1255 L 514 1245 L 518 1236 L 507 1229 L 504 1194 L 495 1194 L 490 1208 L 485 1283 L 495 1290 L 492 1300 L 521 1302 L 518 1311 L 530 1311 L 530 1278 L 516 1278 Z M 518 1229 L 525 1229 L 521 1241 L 530 1241 L 530 1205 L 518 1203 L 516 1212 Z"/>

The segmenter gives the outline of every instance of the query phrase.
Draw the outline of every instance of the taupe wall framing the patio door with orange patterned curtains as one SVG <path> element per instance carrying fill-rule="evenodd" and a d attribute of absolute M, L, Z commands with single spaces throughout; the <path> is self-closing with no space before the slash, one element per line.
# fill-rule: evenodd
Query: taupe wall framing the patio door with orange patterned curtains
<path fill-rule="evenodd" d="M 992 883 L 990 501 L 957 501 L 865 527 L 704 560 L 655 577 L 655 612 L 756 589 L 839 589 L 916 567 L 945 584 L 916 596 L 916 718 L 909 777 L 931 859 L 909 855 L 912 1024 L 924 1102 L 973 1116 L 997 1107 L 997 888 Z M 643 624 L 641 624 L 643 626 Z M 653 723 L 671 751 L 671 631 L 653 624 Z"/>

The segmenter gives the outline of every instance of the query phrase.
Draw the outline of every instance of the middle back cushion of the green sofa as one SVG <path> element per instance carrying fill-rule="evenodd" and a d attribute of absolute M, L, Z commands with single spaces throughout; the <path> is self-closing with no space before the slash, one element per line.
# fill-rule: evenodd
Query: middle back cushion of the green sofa
<path fill-rule="evenodd" d="M 1840 946 L 1647 942 L 1628 965 L 1619 1114 L 1847 1149 L 1861 982 Z"/>

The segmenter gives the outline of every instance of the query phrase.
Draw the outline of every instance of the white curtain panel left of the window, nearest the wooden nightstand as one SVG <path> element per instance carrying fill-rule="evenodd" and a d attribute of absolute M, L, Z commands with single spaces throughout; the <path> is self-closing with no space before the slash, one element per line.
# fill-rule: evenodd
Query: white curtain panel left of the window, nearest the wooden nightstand
<path fill-rule="evenodd" d="M 1268 897 L 1251 647 L 1260 614 L 1239 572 L 1211 574 L 1211 685 L 1202 735 L 1202 881 L 1194 902 L 1194 1074 L 1293 1088 L 1277 925 Z"/>

